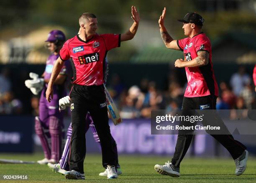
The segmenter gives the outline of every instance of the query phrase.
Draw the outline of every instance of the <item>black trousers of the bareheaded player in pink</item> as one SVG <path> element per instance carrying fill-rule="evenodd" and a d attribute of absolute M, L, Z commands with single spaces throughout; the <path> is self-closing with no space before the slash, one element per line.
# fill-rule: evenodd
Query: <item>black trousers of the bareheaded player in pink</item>
<path fill-rule="evenodd" d="M 72 136 L 70 140 L 69 167 L 84 173 L 84 158 L 86 154 L 85 143 L 85 117 L 90 112 L 97 134 L 100 138 L 102 150 L 102 165 L 116 166 L 116 158 L 110 127 L 108 125 L 108 109 L 104 86 L 81 86 L 74 84 L 71 93 L 71 122 Z"/>

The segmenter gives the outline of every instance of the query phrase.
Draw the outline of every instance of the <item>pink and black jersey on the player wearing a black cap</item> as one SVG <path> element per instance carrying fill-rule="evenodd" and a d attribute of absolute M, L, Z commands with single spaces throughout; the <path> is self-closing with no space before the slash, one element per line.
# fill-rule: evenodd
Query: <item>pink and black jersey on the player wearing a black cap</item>
<path fill-rule="evenodd" d="M 198 51 L 209 53 L 209 63 L 201 67 L 186 67 L 187 89 L 184 97 L 203 97 L 215 95 L 218 97 L 219 89 L 212 68 L 212 48 L 209 38 L 204 33 L 192 38 L 177 40 L 181 51 L 184 51 L 184 61 L 191 61 L 197 57 Z"/>

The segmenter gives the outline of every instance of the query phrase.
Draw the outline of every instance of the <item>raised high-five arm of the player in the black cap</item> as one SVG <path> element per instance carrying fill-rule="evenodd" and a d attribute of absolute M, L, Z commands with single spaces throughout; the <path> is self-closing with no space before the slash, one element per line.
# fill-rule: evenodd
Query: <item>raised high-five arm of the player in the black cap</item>
<path fill-rule="evenodd" d="M 160 33 L 161 37 L 164 41 L 164 44 L 167 48 L 174 49 L 174 50 L 180 50 L 179 46 L 177 45 L 177 40 L 174 40 L 169 33 L 167 32 L 165 26 L 164 26 L 164 18 L 166 15 L 166 8 L 164 7 L 163 13 L 160 16 L 158 23 L 160 27 Z"/>

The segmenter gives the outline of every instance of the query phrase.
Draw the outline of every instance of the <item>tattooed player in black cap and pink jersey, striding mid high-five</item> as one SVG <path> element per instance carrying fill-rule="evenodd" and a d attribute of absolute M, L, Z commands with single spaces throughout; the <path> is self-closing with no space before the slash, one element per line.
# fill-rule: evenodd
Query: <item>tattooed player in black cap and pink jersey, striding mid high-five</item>
<path fill-rule="evenodd" d="M 214 122 L 223 129 L 221 134 L 211 133 L 212 137 L 220 142 L 235 160 L 236 175 L 241 175 L 246 169 L 246 161 L 248 159 L 248 151 L 246 147 L 228 132 L 223 121 L 218 119 L 215 113 L 216 99 L 218 97 L 218 84 L 215 79 L 212 68 L 212 50 L 209 38 L 202 33 L 202 25 L 204 19 L 197 13 L 187 13 L 183 19 L 178 20 L 183 23 L 184 35 L 187 38 L 181 40 L 173 40 L 168 34 L 164 26 L 164 18 L 166 8 L 159 18 L 159 26 L 161 37 L 167 48 L 184 51 L 184 60 L 182 58 L 175 61 L 175 67 L 185 68 L 187 74 L 187 89 L 184 94 L 182 103 L 182 115 L 193 115 L 197 110 L 212 109 Z M 188 113 L 189 112 L 189 113 Z M 208 122 L 207 122 L 208 121 Z M 205 120 L 209 125 L 209 119 Z M 205 125 L 203 123 L 203 125 Z M 162 175 L 170 175 L 179 177 L 179 165 L 184 158 L 189 145 L 192 141 L 194 130 L 184 133 L 179 130 L 174 156 L 171 163 L 165 165 L 155 165 L 155 170 Z"/>

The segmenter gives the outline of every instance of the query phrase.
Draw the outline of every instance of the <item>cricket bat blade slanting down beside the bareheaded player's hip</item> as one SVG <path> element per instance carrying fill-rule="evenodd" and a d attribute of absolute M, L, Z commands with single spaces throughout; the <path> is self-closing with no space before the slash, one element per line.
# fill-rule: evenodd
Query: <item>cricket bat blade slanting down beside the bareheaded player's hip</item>
<path fill-rule="evenodd" d="M 106 94 L 106 98 L 107 98 L 108 113 L 110 114 L 114 125 L 118 125 L 122 122 L 122 119 L 120 117 L 120 114 L 118 112 L 118 109 L 115 106 L 115 103 L 114 103 L 112 97 L 108 93 L 108 90 L 107 90 L 105 84 L 104 84 L 104 90 L 105 90 L 105 94 Z"/>

